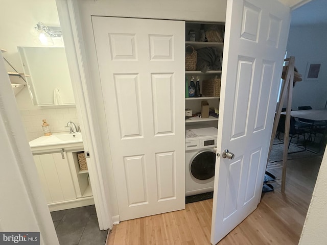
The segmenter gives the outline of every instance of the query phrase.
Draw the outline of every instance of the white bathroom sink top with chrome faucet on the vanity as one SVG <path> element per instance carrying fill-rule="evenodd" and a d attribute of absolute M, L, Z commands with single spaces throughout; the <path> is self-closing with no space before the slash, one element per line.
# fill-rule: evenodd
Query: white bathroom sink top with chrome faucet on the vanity
<path fill-rule="evenodd" d="M 82 135 L 78 133 L 58 133 L 50 136 L 41 136 L 39 138 L 30 141 L 30 147 L 46 146 L 46 145 L 57 145 L 57 144 L 72 144 L 83 142 Z"/>

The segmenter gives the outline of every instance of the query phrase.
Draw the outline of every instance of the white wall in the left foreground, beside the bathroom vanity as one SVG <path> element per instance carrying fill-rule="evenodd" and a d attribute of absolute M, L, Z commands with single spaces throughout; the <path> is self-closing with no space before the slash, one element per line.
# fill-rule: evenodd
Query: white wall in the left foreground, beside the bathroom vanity
<path fill-rule="evenodd" d="M 58 245 L 6 73 L 0 63 L 0 231 L 40 232 L 40 244 Z"/>

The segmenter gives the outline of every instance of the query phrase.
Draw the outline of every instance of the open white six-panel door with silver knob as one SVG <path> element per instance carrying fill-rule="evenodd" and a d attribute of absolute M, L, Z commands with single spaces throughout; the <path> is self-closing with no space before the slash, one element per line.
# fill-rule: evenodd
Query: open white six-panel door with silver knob
<path fill-rule="evenodd" d="M 260 202 L 289 23 L 289 8 L 277 1 L 227 1 L 213 244 Z M 235 158 L 223 158 L 225 149 Z"/>

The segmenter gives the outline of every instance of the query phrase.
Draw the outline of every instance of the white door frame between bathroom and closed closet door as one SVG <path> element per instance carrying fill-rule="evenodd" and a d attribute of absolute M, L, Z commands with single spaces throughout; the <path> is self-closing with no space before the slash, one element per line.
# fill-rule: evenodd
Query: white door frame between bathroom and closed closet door
<path fill-rule="evenodd" d="M 83 38 L 78 36 L 82 33 L 79 15 L 74 11 L 73 0 L 56 0 L 60 26 L 64 36 L 66 56 L 68 61 L 69 73 L 75 95 L 76 108 L 79 118 L 81 118 L 81 128 L 84 151 L 90 153 L 87 158 L 88 171 L 92 186 L 92 193 L 96 206 L 99 227 L 101 230 L 111 229 L 112 224 L 119 220 L 112 220 L 110 214 L 108 178 L 106 169 L 103 169 L 100 160 L 101 153 L 97 147 L 97 128 L 92 118 L 94 111 L 91 107 L 91 99 L 88 93 L 86 78 L 88 77 L 87 65 L 84 64 L 85 54 L 83 54 Z M 119 218 L 118 218 L 119 219 Z"/>

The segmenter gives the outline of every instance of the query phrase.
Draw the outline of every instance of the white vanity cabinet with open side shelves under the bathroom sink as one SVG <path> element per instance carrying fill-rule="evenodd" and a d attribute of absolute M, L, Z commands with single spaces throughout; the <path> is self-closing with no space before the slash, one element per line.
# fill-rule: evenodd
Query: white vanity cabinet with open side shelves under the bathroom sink
<path fill-rule="evenodd" d="M 31 148 L 50 211 L 94 204 L 88 171 L 80 170 L 82 143 Z"/>

